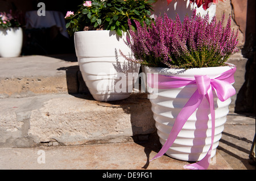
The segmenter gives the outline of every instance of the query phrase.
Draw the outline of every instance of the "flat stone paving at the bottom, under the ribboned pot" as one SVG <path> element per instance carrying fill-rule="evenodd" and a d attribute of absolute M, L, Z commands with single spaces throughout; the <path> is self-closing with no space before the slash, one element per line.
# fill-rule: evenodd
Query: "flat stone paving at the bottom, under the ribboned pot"
<path fill-rule="evenodd" d="M 149 162 L 158 145 L 116 143 L 84 146 L 0 148 L 0 169 L 184 170 L 189 164 L 166 155 Z M 45 161 L 45 162 L 44 162 Z M 232 170 L 217 152 L 209 170 Z"/>

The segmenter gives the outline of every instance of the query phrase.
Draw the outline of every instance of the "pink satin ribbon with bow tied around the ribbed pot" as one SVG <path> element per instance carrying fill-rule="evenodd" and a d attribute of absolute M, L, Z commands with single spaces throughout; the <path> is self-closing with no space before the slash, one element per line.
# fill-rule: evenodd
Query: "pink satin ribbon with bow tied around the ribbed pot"
<path fill-rule="evenodd" d="M 180 78 L 168 75 L 148 74 L 147 83 L 148 86 L 152 88 L 158 87 L 158 89 L 175 89 L 191 84 L 197 85 L 197 90 L 193 93 L 191 98 L 189 98 L 188 102 L 182 108 L 179 115 L 177 115 L 174 126 L 171 129 L 166 143 L 163 145 L 162 149 L 158 152 L 158 154 L 156 154 L 155 157 L 151 159 L 151 161 L 153 159 L 162 157 L 162 155 L 166 153 L 166 151 L 174 143 L 185 122 L 192 115 L 192 113 L 196 111 L 197 107 L 199 107 L 200 103 L 205 97 L 208 100 L 210 115 L 212 118 L 212 143 L 210 145 L 207 155 L 205 155 L 205 157 L 201 159 L 201 161 L 193 163 L 191 165 L 185 165 L 184 168 L 193 170 L 205 170 L 208 168 L 210 164 L 210 154 L 212 152 L 215 132 L 213 91 L 216 91 L 218 99 L 220 99 L 222 102 L 236 94 L 236 90 L 231 85 L 231 83 L 234 83 L 235 72 L 236 67 L 225 71 L 224 73 L 213 79 L 210 79 L 208 75 L 195 75 L 195 78 Z M 158 76 L 158 82 L 154 82 L 154 76 Z"/>

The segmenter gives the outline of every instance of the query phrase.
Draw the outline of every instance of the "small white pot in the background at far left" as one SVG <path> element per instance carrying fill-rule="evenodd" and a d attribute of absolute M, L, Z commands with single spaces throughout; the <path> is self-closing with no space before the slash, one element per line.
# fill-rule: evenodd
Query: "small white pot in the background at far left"
<path fill-rule="evenodd" d="M 0 28 L 0 57 L 18 57 L 22 42 L 22 28 Z"/>

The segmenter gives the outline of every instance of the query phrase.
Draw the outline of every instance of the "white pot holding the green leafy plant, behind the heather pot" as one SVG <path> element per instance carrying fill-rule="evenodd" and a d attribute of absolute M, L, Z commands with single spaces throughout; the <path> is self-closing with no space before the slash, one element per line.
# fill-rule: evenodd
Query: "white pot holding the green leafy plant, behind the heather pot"
<path fill-rule="evenodd" d="M 100 101 L 126 99 L 131 94 L 140 65 L 125 60 L 131 50 L 123 36 L 115 31 L 81 31 L 75 33 L 76 56 L 82 77 L 93 98 Z M 135 76 L 133 76 L 133 73 Z"/>

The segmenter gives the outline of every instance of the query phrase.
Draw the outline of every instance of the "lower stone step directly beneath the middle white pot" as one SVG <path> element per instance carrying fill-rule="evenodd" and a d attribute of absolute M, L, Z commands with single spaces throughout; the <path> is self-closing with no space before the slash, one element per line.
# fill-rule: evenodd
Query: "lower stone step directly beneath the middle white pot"
<path fill-rule="evenodd" d="M 146 94 L 111 103 L 45 94 L 0 99 L 0 105 L 0 147 L 127 142 L 155 132 Z"/>

